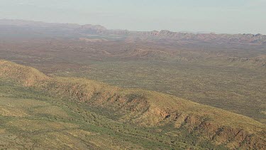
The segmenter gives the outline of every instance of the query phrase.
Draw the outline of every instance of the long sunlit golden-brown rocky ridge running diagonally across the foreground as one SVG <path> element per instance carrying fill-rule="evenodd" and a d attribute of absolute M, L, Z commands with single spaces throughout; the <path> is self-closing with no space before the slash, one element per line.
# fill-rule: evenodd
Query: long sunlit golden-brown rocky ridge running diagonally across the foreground
<path fill-rule="evenodd" d="M 201 140 L 225 145 L 230 149 L 265 148 L 265 124 L 172 95 L 122 89 L 80 78 L 47 77 L 34 68 L 5 60 L 0 60 L 0 77 L 24 87 L 47 92 L 60 100 L 72 100 L 94 109 L 103 109 L 101 113 L 113 117 L 116 122 L 137 124 L 139 127 L 170 127 L 173 131 L 189 131 Z M 10 108 L 4 107 L 1 115 L 28 115 L 23 109 L 16 111 L 21 112 L 11 112 Z M 33 112 L 45 113 L 45 109 Z M 57 111 L 46 113 L 64 115 Z"/>

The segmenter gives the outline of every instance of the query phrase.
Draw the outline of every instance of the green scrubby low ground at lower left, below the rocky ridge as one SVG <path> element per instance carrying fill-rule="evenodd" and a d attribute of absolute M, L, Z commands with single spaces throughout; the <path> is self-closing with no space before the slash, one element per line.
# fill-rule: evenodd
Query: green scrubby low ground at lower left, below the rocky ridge
<path fill-rule="evenodd" d="M 164 127 L 123 124 L 113 121 L 109 118 L 111 115 L 95 113 L 89 106 L 57 100 L 4 82 L 0 88 L 1 93 L 9 95 L 0 97 L 1 149 L 187 149 L 198 146 L 185 135 L 168 136 Z"/>

